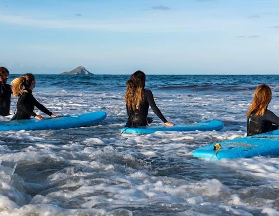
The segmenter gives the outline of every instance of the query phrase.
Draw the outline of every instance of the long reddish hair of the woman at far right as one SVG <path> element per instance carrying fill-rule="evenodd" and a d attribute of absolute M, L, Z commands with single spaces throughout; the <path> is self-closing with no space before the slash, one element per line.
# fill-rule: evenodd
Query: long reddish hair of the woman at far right
<path fill-rule="evenodd" d="M 262 116 L 271 101 L 271 96 L 270 87 L 266 84 L 260 84 L 255 90 L 251 106 L 246 115 L 249 117 L 252 112 L 256 111 L 255 116 Z"/>

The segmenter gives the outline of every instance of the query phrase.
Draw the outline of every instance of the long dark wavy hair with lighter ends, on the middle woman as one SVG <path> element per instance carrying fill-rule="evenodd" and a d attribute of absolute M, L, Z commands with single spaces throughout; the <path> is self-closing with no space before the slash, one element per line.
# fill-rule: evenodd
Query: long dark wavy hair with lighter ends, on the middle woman
<path fill-rule="evenodd" d="M 145 73 L 134 72 L 126 82 L 125 102 L 128 110 L 136 110 L 144 102 Z"/>

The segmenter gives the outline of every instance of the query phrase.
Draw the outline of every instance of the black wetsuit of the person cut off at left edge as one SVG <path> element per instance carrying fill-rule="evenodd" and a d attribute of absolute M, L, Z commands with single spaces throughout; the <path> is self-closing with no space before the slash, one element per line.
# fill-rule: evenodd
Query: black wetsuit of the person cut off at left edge
<path fill-rule="evenodd" d="M 11 85 L 0 82 L 0 115 L 10 115 Z"/>

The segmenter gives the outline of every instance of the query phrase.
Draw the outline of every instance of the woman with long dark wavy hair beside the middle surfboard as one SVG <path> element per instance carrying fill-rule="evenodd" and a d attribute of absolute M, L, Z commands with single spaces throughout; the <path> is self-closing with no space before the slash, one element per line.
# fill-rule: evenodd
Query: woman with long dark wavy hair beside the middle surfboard
<path fill-rule="evenodd" d="M 150 124 L 153 120 L 147 117 L 149 106 L 165 125 L 175 125 L 167 121 L 156 106 L 151 90 L 145 89 L 145 79 L 144 72 L 136 71 L 126 82 L 125 102 L 128 120 L 125 127 L 141 127 Z"/>

